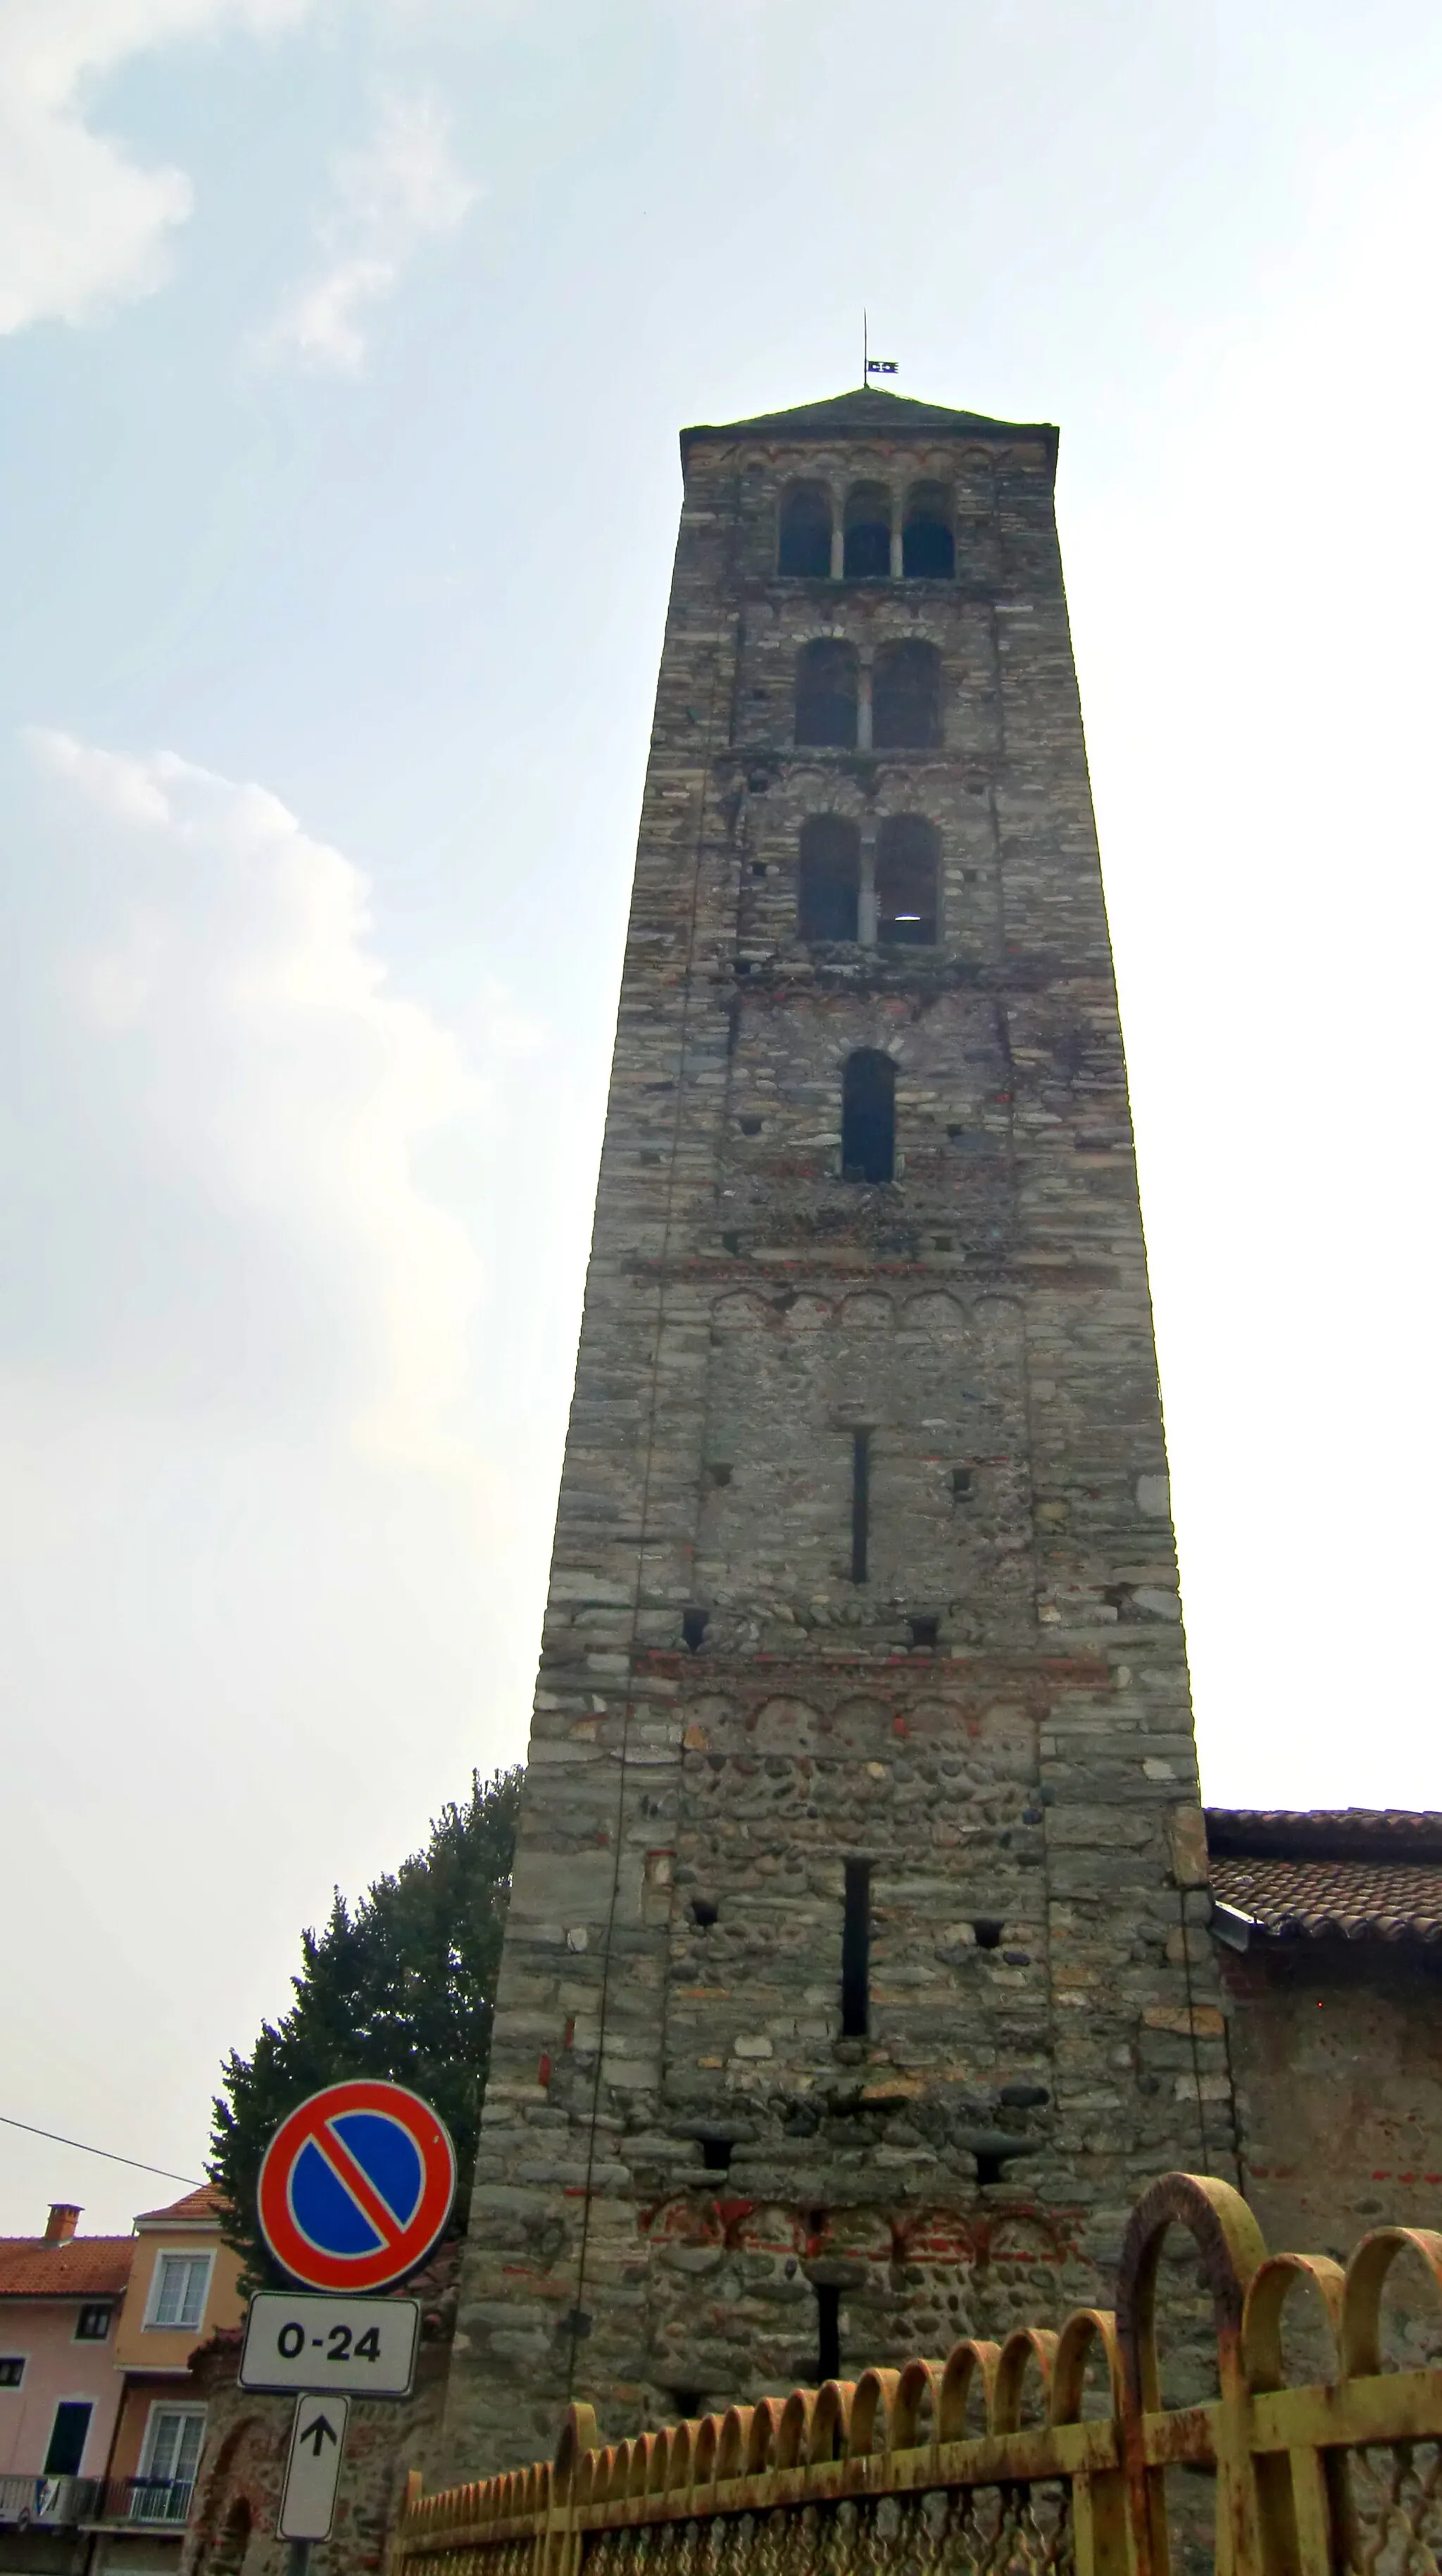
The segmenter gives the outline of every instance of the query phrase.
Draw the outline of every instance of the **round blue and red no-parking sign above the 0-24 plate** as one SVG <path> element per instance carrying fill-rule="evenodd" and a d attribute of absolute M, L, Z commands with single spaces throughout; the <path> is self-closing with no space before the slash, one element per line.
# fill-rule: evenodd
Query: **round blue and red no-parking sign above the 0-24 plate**
<path fill-rule="evenodd" d="M 456 2197 L 445 2125 L 404 2084 L 327 2084 L 281 2120 L 260 2166 L 260 2233 L 312 2290 L 384 2290 L 425 2262 Z"/>

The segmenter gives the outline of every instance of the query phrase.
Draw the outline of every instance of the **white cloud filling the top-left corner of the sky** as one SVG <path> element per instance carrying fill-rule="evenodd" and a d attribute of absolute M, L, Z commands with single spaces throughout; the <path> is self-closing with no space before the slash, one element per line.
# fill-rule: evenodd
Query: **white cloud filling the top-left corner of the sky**
<path fill-rule="evenodd" d="M 0 0 L 0 332 L 90 322 L 149 294 L 191 214 L 183 170 L 144 167 L 88 100 L 131 54 L 224 26 L 263 33 L 309 0 Z"/>

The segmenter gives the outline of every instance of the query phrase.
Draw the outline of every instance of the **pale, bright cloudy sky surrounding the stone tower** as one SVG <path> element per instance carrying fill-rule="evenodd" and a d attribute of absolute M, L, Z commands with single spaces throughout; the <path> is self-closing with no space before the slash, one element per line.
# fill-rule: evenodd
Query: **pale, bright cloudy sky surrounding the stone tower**
<path fill-rule="evenodd" d="M 0 0 L 0 2112 L 525 1744 L 675 433 L 1061 422 L 1210 1798 L 1442 1806 L 1427 0 Z M 170 2187 L 0 2128 L 0 2231 Z"/>

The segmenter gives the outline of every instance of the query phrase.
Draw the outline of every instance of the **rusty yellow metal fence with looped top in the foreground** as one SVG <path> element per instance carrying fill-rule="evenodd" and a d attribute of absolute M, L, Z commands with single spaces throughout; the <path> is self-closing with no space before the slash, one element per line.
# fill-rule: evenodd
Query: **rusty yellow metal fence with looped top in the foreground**
<path fill-rule="evenodd" d="M 1161 2398 L 1172 2226 L 1213 2303 L 1218 2396 L 1195 2406 Z M 1442 2365 L 1383 2370 L 1398 2259 L 1442 2352 L 1434 2231 L 1375 2228 L 1347 2267 L 1267 2254 L 1226 2182 L 1166 2174 L 1130 2215 L 1115 2313 L 628 2442 L 572 2406 L 554 2463 L 435 2496 L 412 2476 L 389 2576 L 1439 2576 Z M 1288 2385 L 1306 2293 L 1331 2362 Z"/>

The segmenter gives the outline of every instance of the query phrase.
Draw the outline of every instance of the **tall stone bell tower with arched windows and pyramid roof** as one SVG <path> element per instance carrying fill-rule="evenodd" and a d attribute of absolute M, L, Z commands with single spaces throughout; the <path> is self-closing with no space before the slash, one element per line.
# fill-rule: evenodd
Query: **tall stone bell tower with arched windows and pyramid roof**
<path fill-rule="evenodd" d="M 1056 430 L 682 474 L 453 2478 L 1061 2316 L 1233 2172 Z"/>

